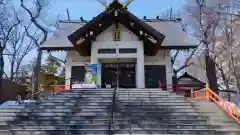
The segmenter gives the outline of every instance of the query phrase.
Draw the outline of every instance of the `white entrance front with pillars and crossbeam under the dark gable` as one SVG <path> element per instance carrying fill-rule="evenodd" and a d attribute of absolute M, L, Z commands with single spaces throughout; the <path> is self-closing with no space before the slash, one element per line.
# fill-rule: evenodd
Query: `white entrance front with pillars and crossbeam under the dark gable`
<path fill-rule="evenodd" d="M 138 88 L 145 87 L 145 77 L 144 77 L 144 51 L 143 43 L 139 41 L 138 37 L 124 27 L 122 24 L 119 25 L 120 29 L 120 38 L 121 41 L 113 41 L 113 30 L 114 25 L 110 26 L 103 33 L 101 33 L 96 41 L 92 44 L 91 54 L 91 63 L 99 64 L 98 70 L 101 71 L 101 59 L 108 58 L 136 58 L 136 85 Z M 116 48 L 116 54 L 98 54 L 98 49 L 104 48 Z M 119 48 L 136 48 L 137 53 L 132 54 L 120 54 L 118 53 Z M 101 84 L 101 72 L 98 72 L 97 84 Z"/>

